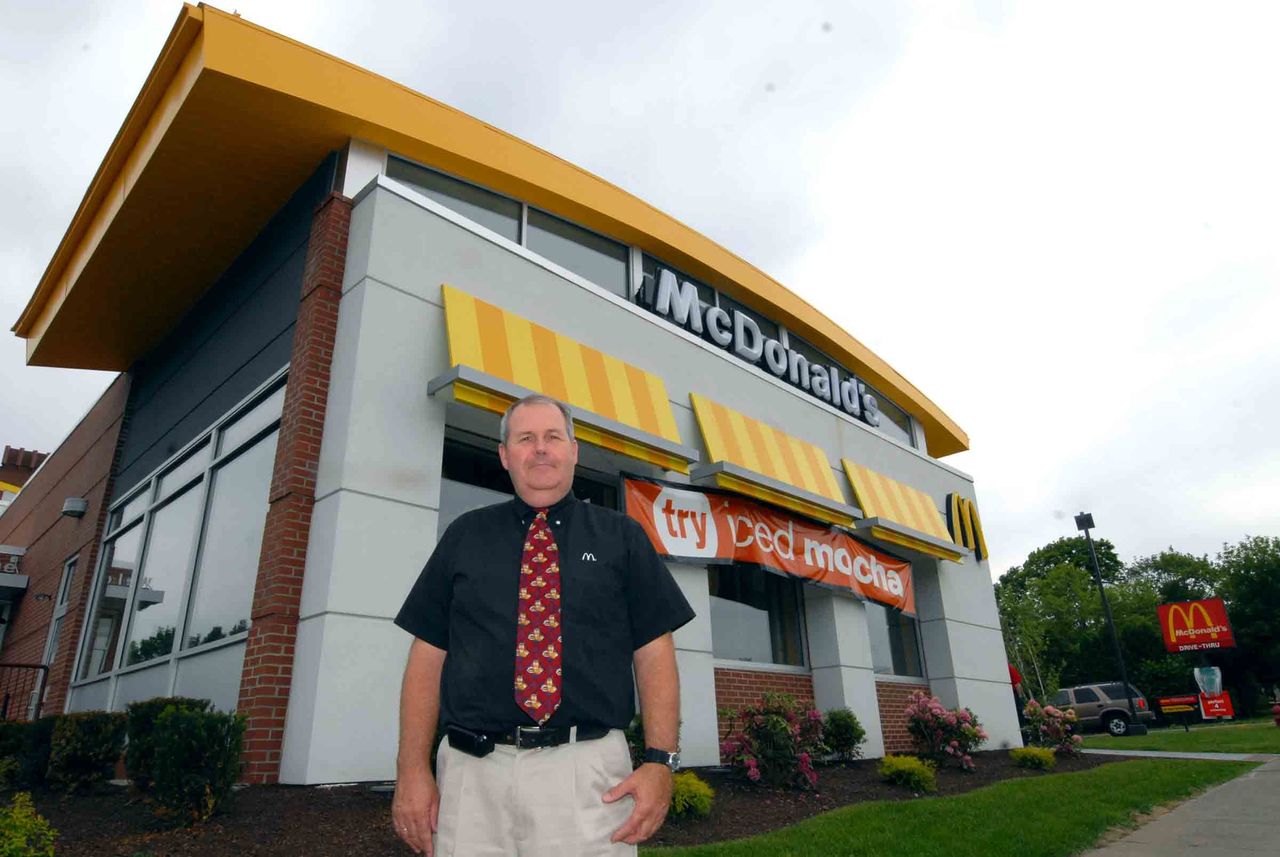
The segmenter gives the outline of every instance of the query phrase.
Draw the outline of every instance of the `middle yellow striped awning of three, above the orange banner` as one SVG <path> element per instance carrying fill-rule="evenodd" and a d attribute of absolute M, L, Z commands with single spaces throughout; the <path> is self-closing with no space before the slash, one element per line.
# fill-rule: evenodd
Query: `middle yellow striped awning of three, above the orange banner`
<path fill-rule="evenodd" d="M 818 446 L 778 431 L 696 393 L 689 397 L 710 463 L 694 473 L 719 487 L 849 526 L 856 509 L 845 503 L 831 462 Z"/>

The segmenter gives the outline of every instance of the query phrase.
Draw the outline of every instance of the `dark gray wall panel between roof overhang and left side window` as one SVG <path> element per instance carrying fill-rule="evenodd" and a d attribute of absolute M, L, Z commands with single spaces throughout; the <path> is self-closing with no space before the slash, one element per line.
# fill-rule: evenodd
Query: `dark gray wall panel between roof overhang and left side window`
<path fill-rule="evenodd" d="M 168 339 L 129 370 L 115 498 L 289 362 L 311 216 L 333 187 L 335 164 L 337 155 L 326 157 Z"/>

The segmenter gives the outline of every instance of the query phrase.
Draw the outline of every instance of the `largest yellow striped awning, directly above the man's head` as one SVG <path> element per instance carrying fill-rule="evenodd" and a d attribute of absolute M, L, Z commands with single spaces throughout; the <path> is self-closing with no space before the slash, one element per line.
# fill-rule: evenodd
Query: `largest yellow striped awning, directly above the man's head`
<path fill-rule="evenodd" d="M 684 446 L 662 379 L 588 348 L 453 287 L 442 287 L 449 362 L 435 379 L 453 399 L 502 413 L 541 393 L 573 408 L 579 440 L 668 471 L 689 472 L 698 452 Z"/>

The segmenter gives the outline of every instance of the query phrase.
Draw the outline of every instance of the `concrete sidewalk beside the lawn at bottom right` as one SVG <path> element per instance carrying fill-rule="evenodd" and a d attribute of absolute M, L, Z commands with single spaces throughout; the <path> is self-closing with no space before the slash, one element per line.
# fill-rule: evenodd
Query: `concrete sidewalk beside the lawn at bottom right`
<path fill-rule="evenodd" d="M 1105 750 L 1091 753 L 1112 755 Z M 1280 852 L 1280 756 L 1129 751 L 1120 756 L 1266 761 L 1084 857 L 1249 857 Z"/>

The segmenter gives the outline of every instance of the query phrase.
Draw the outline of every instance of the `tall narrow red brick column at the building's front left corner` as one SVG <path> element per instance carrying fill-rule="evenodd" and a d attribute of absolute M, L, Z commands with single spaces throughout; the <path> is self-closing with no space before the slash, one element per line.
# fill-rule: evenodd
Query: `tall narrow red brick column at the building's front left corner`
<path fill-rule="evenodd" d="M 248 718 L 243 759 L 244 779 L 250 783 L 275 783 L 280 773 L 351 205 L 342 194 L 330 193 L 316 208 L 307 240 L 302 302 L 293 329 L 293 354 L 237 706 Z"/>

